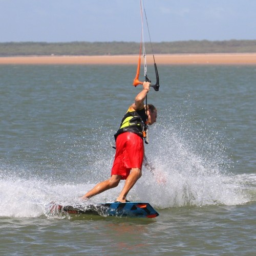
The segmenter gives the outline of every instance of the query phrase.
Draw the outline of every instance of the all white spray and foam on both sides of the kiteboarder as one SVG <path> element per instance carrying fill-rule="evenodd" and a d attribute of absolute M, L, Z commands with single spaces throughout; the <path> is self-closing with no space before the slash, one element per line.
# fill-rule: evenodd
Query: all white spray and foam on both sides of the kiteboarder
<path fill-rule="evenodd" d="M 216 139 L 216 134 L 207 130 L 206 125 L 202 123 L 200 127 L 201 130 L 195 129 L 195 125 L 187 120 L 186 123 L 177 121 L 175 124 L 164 124 L 162 121 L 150 127 L 152 136 L 150 144 L 145 148 L 147 158 L 155 167 L 154 175 L 143 167 L 142 178 L 129 193 L 130 201 L 147 201 L 157 208 L 169 208 L 237 205 L 255 200 L 255 193 L 251 193 L 250 189 L 253 187 L 255 175 L 249 177 L 228 172 L 231 163 L 221 143 Z M 112 134 L 113 131 L 104 132 L 101 137 L 97 135 L 98 145 L 95 141 L 93 147 L 93 150 L 97 150 L 97 157 L 93 161 L 90 156 L 91 164 L 84 166 L 84 173 L 78 174 L 81 177 L 80 182 L 77 177 L 73 178 L 77 171 L 72 170 L 66 174 L 68 179 L 57 182 L 49 178 L 49 175 L 21 178 L 20 175 L 15 175 L 18 172 L 14 172 L 14 168 L 9 167 L 7 170 L 2 167 L 0 216 L 42 216 L 46 214 L 46 205 L 53 200 L 61 205 L 81 203 L 81 195 L 95 183 L 109 177 L 114 156 L 114 151 L 110 150 Z M 78 166 L 80 169 L 80 163 Z M 23 172 L 29 170 L 20 170 L 19 173 Z M 117 188 L 95 196 L 93 201 L 114 201 L 122 186 L 123 181 Z"/>

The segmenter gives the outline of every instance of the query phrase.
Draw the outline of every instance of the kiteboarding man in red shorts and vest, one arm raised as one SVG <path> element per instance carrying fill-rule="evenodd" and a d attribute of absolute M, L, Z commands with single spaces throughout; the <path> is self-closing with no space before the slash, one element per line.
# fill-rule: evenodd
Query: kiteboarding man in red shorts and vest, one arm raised
<path fill-rule="evenodd" d="M 114 188 L 121 179 L 124 179 L 123 189 L 116 201 L 127 202 L 127 194 L 142 175 L 143 137 L 147 128 L 146 122 L 148 125 L 152 125 L 157 119 L 155 106 L 151 104 L 144 106 L 148 91 L 150 91 L 150 83 L 143 82 L 143 90 L 135 97 L 135 102 L 124 115 L 120 129 L 115 134 L 116 155 L 111 178 L 98 183 L 82 199 L 87 200 L 105 190 Z"/>

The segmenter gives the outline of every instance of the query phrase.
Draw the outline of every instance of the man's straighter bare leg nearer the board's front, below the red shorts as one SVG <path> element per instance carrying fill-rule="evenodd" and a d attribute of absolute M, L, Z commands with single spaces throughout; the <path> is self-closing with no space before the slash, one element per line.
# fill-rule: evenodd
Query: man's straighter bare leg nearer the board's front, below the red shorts
<path fill-rule="evenodd" d="M 142 172 L 140 168 L 132 168 L 130 175 L 127 177 L 123 189 L 120 193 L 120 195 L 118 196 L 118 198 L 116 199 L 116 201 L 118 202 L 125 202 L 125 198 L 127 196 L 127 194 L 129 193 L 129 191 L 131 190 L 131 188 L 134 186 L 134 184 L 136 183 L 136 181 L 141 177 Z"/>

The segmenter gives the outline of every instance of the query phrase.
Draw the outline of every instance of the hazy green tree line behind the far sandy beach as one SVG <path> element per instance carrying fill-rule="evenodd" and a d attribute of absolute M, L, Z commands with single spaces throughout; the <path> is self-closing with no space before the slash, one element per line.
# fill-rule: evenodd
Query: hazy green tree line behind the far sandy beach
<path fill-rule="evenodd" d="M 256 40 L 189 40 L 153 42 L 155 54 L 189 53 L 252 53 L 256 52 Z M 2 42 L 0 56 L 18 55 L 123 55 L 138 54 L 138 42 Z M 145 43 L 151 53 L 150 43 Z"/>

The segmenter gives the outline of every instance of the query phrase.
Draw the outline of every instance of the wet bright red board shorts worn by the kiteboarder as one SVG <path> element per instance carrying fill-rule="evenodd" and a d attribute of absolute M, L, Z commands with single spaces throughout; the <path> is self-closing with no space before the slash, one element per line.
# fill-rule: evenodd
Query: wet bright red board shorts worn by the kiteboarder
<path fill-rule="evenodd" d="M 131 168 L 142 168 L 144 157 L 143 139 L 135 133 L 121 133 L 116 139 L 116 155 L 111 175 L 121 175 L 125 180 Z"/>

